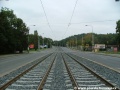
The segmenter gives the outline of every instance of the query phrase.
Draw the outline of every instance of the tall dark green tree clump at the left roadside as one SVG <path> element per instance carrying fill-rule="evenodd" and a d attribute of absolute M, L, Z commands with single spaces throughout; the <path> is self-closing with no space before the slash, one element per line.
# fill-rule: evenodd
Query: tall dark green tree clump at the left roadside
<path fill-rule="evenodd" d="M 0 10 L 0 54 L 22 52 L 28 46 L 29 29 L 13 10 Z"/>

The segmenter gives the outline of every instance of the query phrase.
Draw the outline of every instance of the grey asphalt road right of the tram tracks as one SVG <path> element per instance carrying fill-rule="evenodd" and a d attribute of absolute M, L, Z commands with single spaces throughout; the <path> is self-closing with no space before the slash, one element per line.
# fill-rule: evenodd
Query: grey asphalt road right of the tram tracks
<path fill-rule="evenodd" d="M 71 50 L 68 48 L 63 48 L 63 50 L 75 54 L 77 56 L 86 58 L 88 60 L 98 62 L 102 65 L 105 65 L 120 72 L 120 55 L 96 54 L 93 52 L 83 52 L 79 50 Z"/>

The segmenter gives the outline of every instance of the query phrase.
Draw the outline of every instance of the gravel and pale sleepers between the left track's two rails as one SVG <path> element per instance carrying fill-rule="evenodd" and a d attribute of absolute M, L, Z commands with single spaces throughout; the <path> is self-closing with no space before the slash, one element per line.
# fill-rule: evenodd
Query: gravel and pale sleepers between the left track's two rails
<path fill-rule="evenodd" d="M 53 61 L 53 55 L 42 61 L 40 64 L 38 64 L 36 67 L 34 67 L 32 70 L 30 70 L 28 73 L 23 75 L 20 79 L 18 79 L 16 82 L 11 84 L 7 87 L 6 90 L 31 90 L 31 89 L 37 89 L 40 81 L 42 80 L 42 77 L 48 70 L 49 65 Z"/>

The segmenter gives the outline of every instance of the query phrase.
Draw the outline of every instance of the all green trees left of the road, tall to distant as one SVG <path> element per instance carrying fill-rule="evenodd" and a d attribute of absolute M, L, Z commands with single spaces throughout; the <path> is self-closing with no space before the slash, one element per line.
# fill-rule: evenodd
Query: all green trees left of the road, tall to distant
<path fill-rule="evenodd" d="M 37 50 L 38 42 L 43 45 L 43 41 L 44 45 L 47 44 L 48 47 L 52 45 L 52 39 L 39 36 L 37 30 L 34 31 L 34 34 L 29 34 L 29 27 L 14 14 L 13 10 L 1 8 L 0 54 L 22 53 L 24 50 L 28 50 L 30 44 L 34 44 L 34 50 Z"/>

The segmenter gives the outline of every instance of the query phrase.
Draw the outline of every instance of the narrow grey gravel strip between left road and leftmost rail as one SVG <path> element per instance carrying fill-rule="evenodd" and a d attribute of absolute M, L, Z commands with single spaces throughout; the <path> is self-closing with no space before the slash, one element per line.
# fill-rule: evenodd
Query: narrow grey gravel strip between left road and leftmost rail
<path fill-rule="evenodd" d="M 49 56 L 49 55 L 50 54 L 48 54 L 47 56 Z M 34 65 L 34 64 L 38 63 L 39 61 L 43 60 L 45 57 L 46 57 L 46 55 L 43 56 L 40 59 L 37 59 L 37 60 L 35 60 L 33 62 L 28 63 L 25 66 L 22 66 L 21 68 L 15 70 L 15 71 L 10 72 L 9 74 L 7 74 L 7 75 L 5 75 L 3 77 L 0 77 L 0 86 L 2 86 L 3 84 L 5 84 L 6 82 L 8 82 L 9 80 L 11 80 L 12 78 L 16 77 L 20 73 L 24 72 L 25 70 L 27 70 L 28 68 L 30 68 L 32 65 Z"/>

